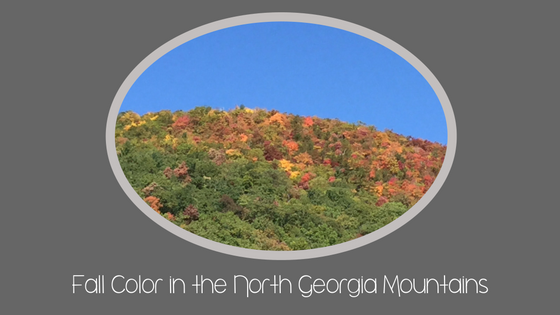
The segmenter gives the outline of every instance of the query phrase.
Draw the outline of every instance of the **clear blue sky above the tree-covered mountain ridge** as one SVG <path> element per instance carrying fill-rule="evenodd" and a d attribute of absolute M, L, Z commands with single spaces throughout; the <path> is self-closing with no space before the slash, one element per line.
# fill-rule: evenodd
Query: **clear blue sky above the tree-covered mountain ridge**
<path fill-rule="evenodd" d="M 368 38 L 307 23 L 240 25 L 195 38 L 152 64 L 120 110 L 241 104 L 447 143 L 441 104 L 414 67 Z"/>

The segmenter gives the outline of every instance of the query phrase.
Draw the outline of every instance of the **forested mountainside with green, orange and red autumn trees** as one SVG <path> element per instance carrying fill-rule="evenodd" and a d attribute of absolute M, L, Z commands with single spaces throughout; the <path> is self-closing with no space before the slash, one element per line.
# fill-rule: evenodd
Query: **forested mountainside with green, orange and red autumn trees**
<path fill-rule="evenodd" d="M 238 106 L 116 123 L 121 167 L 154 211 L 194 234 L 260 250 L 346 242 L 430 188 L 446 146 L 364 123 Z"/>

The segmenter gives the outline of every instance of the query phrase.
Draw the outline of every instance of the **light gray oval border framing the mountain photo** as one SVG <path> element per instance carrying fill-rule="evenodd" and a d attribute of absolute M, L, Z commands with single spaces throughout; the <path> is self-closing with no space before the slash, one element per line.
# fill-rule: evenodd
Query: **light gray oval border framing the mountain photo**
<path fill-rule="evenodd" d="M 223 28 L 228 28 L 228 27 L 243 25 L 243 24 L 260 23 L 260 22 L 312 23 L 312 24 L 335 27 L 361 35 L 397 53 L 399 56 L 401 56 L 406 61 L 408 61 L 414 68 L 416 68 L 416 70 L 418 70 L 428 81 L 428 83 L 431 85 L 432 89 L 434 90 L 434 92 L 436 93 L 436 95 L 440 100 L 447 121 L 448 140 L 447 140 L 446 157 L 443 162 L 440 173 L 436 177 L 436 180 L 432 184 L 432 187 L 426 192 L 426 194 L 420 199 L 420 201 L 418 201 L 416 205 L 410 208 L 406 213 L 404 213 L 402 216 L 397 218 L 395 221 L 391 222 L 390 224 L 382 227 L 377 231 L 374 231 L 358 239 L 348 241 L 338 245 L 329 246 L 329 247 L 310 249 L 310 250 L 300 250 L 300 251 L 288 251 L 288 252 L 253 250 L 253 249 L 245 249 L 241 247 L 221 244 L 200 237 L 193 233 L 190 233 L 176 226 L 175 224 L 167 221 L 165 218 L 157 214 L 134 191 L 134 189 L 126 179 L 121 169 L 117 157 L 116 147 L 115 147 L 115 127 L 116 127 L 117 116 L 119 113 L 119 108 L 126 94 L 128 93 L 128 90 L 133 85 L 133 83 L 156 60 L 161 58 L 169 51 L 175 49 L 176 47 L 194 38 L 197 38 L 204 34 L 211 33 Z M 455 123 L 455 116 L 453 114 L 453 109 L 451 108 L 451 103 L 449 102 L 449 99 L 445 91 L 443 90 L 443 87 L 438 82 L 436 77 L 418 58 L 416 58 L 405 48 L 401 47 L 399 44 L 393 42 L 392 40 L 386 38 L 385 36 L 378 34 L 365 27 L 359 26 L 357 24 L 353 24 L 335 18 L 320 16 L 320 15 L 304 14 L 304 13 L 259 13 L 259 14 L 250 14 L 250 15 L 237 16 L 233 18 L 227 18 L 224 20 L 212 22 L 200 26 L 198 28 L 195 28 L 163 44 L 161 47 L 159 47 L 154 52 L 152 52 L 149 56 L 147 56 L 144 60 L 142 60 L 142 62 L 140 62 L 140 64 L 138 64 L 138 66 L 136 66 L 136 68 L 134 68 L 134 70 L 132 70 L 132 72 L 124 80 L 123 84 L 117 91 L 115 98 L 113 99 L 113 103 L 109 110 L 109 117 L 107 120 L 106 143 L 107 143 L 107 153 L 109 156 L 109 162 L 111 164 L 111 168 L 113 169 L 115 177 L 117 178 L 117 181 L 123 188 L 124 192 L 128 195 L 128 197 L 132 200 L 132 202 L 140 210 L 144 212 L 144 214 L 146 214 L 150 219 L 152 219 L 154 222 L 159 224 L 164 229 L 191 243 L 224 254 L 245 257 L 245 258 L 253 258 L 253 259 L 296 260 L 296 259 L 309 259 L 309 258 L 317 258 L 317 257 L 338 254 L 364 246 L 366 244 L 374 242 L 390 234 L 391 232 L 403 226 L 413 217 L 415 217 L 435 197 L 436 193 L 443 186 L 443 183 L 451 170 L 451 165 L 453 163 L 453 159 L 455 157 L 455 151 L 457 147 L 457 126 Z"/>

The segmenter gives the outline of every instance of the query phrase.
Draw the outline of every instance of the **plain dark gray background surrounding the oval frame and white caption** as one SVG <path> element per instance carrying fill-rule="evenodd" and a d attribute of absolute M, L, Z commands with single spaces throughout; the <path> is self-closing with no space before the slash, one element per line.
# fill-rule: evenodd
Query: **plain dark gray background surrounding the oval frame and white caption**
<path fill-rule="evenodd" d="M 506 1 L 281 4 L 191 1 L 3 4 L 2 280 L 10 314 L 370 312 L 554 313 L 559 23 L 555 8 Z M 454 109 L 457 153 L 438 195 L 392 234 L 300 261 L 228 256 L 146 217 L 118 185 L 107 115 L 132 69 L 172 38 L 215 20 L 302 12 L 370 28 L 418 57 Z M 554 57 L 554 58 L 553 58 Z M 554 136 L 553 136 L 554 135 Z M 488 294 L 72 294 L 72 275 L 225 278 L 487 278 Z"/>

